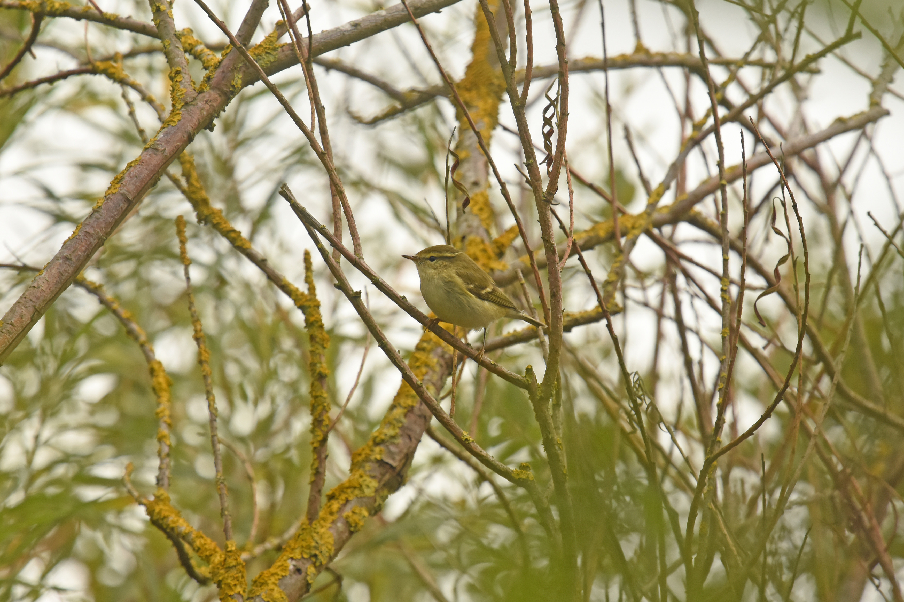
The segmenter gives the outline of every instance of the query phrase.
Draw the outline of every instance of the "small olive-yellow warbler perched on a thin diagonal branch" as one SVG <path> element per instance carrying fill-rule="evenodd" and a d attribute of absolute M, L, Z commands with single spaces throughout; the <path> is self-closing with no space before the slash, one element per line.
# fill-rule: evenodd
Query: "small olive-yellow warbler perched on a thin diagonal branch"
<path fill-rule="evenodd" d="M 516 308 L 490 274 L 452 245 L 428 246 L 418 255 L 402 257 L 418 267 L 420 293 L 438 320 L 468 330 L 486 329 L 500 318 L 524 320 L 539 329 L 546 328 L 540 320 Z"/>

